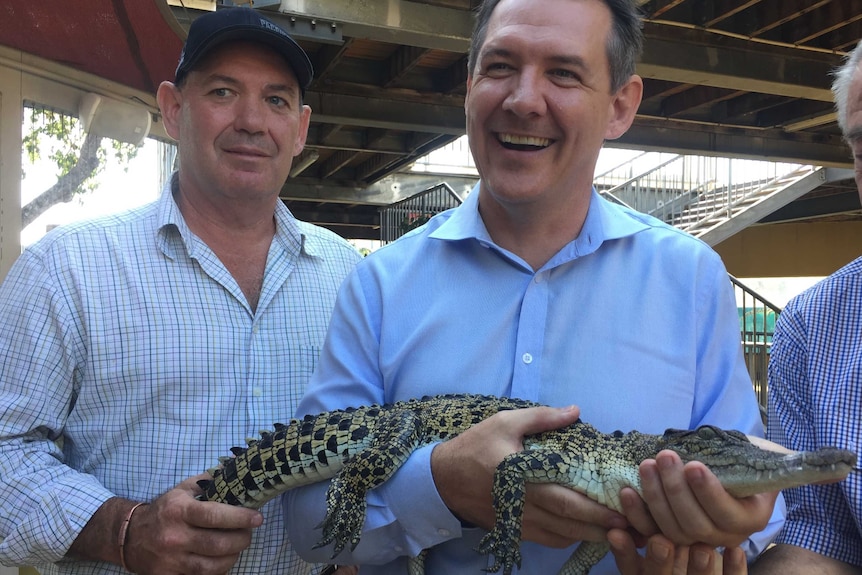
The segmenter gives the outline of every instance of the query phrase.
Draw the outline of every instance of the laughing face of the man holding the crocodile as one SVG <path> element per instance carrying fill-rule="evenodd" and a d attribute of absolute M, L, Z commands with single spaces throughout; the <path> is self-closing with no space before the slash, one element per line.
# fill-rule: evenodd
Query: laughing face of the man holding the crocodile
<path fill-rule="evenodd" d="M 465 101 L 480 205 L 539 202 L 553 213 L 575 202 L 585 216 L 602 144 L 628 129 L 642 92 L 635 76 L 611 94 L 610 30 L 600 0 L 495 8 Z"/>

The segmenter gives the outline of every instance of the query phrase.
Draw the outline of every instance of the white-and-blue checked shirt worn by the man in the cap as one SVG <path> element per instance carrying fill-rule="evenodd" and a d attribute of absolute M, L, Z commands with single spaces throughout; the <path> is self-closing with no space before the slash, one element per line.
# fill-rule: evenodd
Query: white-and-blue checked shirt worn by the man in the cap
<path fill-rule="evenodd" d="M 281 202 L 275 219 L 255 312 L 170 189 L 24 251 L 0 286 L 0 562 L 123 573 L 48 563 L 108 498 L 150 501 L 293 415 L 359 255 Z M 262 511 L 232 573 L 302 572 Z"/>

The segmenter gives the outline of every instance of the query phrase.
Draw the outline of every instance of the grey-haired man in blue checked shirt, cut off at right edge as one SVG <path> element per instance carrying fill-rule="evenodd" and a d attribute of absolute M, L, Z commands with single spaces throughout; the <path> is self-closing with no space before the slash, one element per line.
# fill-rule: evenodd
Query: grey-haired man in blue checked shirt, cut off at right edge
<path fill-rule="evenodd" d="M 838 125 L 862 190 L 862 44 L 832 84 Z M 862 258 L 793 298 L 775 325 L 767 436 L 793 450 L 859 450 L 862 438 Z M 785 491 L 787 523 L 752 567 L 758 575 L 862 571 L 862 475 Z"/>

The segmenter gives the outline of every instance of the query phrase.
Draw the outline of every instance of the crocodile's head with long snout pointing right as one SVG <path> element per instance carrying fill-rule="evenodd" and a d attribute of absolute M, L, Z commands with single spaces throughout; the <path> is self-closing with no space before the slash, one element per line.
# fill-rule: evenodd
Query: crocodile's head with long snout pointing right
<path fill-rule="evenodd" d="M 658 439 L 657 447 L 677 452 L 684 462 L 704 463 L 737 497 L 840 481 L 856 468 L 856 454 L 846 449 L 787 451 L 763 440 L 755 445 L 744 433 L 712 425 L 694 430 L 668 429 Z"/>

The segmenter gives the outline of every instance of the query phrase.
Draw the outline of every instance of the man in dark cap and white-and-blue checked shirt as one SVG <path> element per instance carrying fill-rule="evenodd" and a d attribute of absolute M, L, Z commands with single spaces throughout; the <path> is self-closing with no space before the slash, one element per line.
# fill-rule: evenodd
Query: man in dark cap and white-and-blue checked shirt
<path fill-rule="evenodd" d="M 293 415 L 359 259 L 279 199 L 305 144 L 311 77 L 305 52 L 254 10 L 199 17 L 158 91 L 180 157 L 161 198 L 54 230 L 12 267 L 0 287 L 0 563 L 310 572 L 277 504 L 197 501 L 195 480 L 238 438 Z"/>

